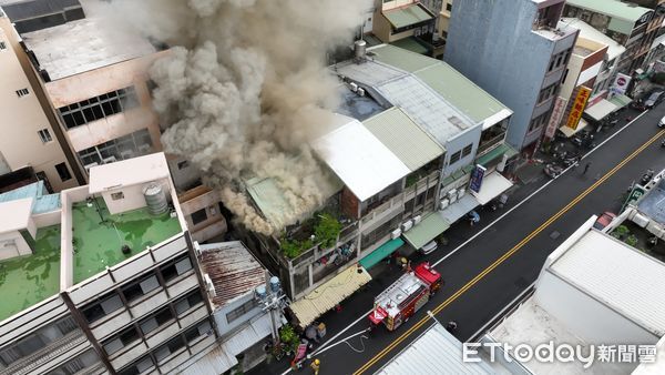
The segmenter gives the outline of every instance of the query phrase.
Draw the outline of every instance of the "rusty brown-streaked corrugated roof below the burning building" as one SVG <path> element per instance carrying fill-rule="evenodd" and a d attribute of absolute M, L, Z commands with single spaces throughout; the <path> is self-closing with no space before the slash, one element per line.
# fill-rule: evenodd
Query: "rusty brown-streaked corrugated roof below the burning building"
<path fill-rule="evenodd" d="M 265 284 L 265 268 L 239 241 L 201 245 L 201 265 L 215 285 L 215 306 Z"/>

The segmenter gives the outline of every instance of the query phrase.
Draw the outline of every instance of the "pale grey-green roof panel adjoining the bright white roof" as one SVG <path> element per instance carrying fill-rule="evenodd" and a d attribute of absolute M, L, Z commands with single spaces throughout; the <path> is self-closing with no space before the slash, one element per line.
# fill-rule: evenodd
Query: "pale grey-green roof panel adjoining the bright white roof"
<path fill-rule="evenodd" d="M 367 128 L 411 171 L 443 154 L 443 148 L 401 109 L 391 108 L 365 120 Z"/>

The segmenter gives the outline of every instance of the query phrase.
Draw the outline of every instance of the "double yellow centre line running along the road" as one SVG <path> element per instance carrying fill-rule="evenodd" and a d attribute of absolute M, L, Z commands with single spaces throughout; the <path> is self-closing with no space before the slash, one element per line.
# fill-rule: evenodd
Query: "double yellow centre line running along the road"
<path fill-rule="evenodd" d="M 470 282 L 464 284 L 459 291 L 457 291 L 453 295 L 448 297 L 448 300 L 443 301 L 440 305 L 432 310 L 432 314 L 439 314 L 446 306 L 450 305 L 454 302 L 460 295 L 464 294 L 469 288 L 475 285 L 480 280 L 487 276 L 490 272 L 497 268 L 500 264 L 505 262 L 509 257 L 511 257 L 514 253 L 516 253 L 520 249 L 522 249 L 529 241 L 533 240 L 536 235 L 539 235 L 543 230 L 550 226 L 554 221 L 559 220 L 563 214 L 569 212 L 573 206 L 575 206 L 580 201 L 582 201 L 586 195 L 593 192 L 597 186 L 600 186 L 603 182 L 614 175 L 620 169 L 622 169 L 626 163 L 631 160 L 635 159 L 642 151 L 653 144 L 658 138 L 665 134 L 665 130 L 661 130 L 656 135 L 652 136 L 646 143 L 642 144 L 637 150 L 633 151 L 626 159 L 624 159 L 621 163 L 616 164 L 612 170 L 610 170 L 605 175 L 603 175 L 598 181 L 589 186 L 582 194 L 577 195 L 574 200 L 569 202 L 563 209 L 561 209 L 557 213 L 551 216 L 548 221 L 542 223 L 538 229 L 531 232 L 528 236 L 525 236 L 522 241 L 520 241 L 516 245 L 514 245 L 511 250 L 509 250 L 505 254 L 499 257 L 494 263 L 490 264 L 487 268 L 484 268 L 481 273 L 475 275 Z M 369 362 L 367 362 L 362 367 L 358 368 L 354 375 L 359 375 L 366 372 L 369 367 L 374 366 L 379 359 L 381 359 L 386 354 L 392 351 L 397 345 L 399 345 L 402 341 L 405 341 L 408 336 L 410 336 L 415 331 L 420 328 L 427 321 L 430 320 L 429 315 L 424 315 L 418 323 L 416 323 L 411 328 L 402 333 L 401 336 L 396 338 L 390 345 L 386 346 L 381 352 L 375 355 Z"/>

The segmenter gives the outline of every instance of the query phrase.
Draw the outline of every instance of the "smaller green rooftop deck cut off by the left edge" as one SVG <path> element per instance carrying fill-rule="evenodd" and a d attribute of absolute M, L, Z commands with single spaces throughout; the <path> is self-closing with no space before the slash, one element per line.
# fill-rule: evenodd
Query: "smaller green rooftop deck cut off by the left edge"
<path fill-rule="evenodd" d="M 0 261 L 0 321 L 60 290 L 60 224 L 37 231 L 34 253 Z"/>

